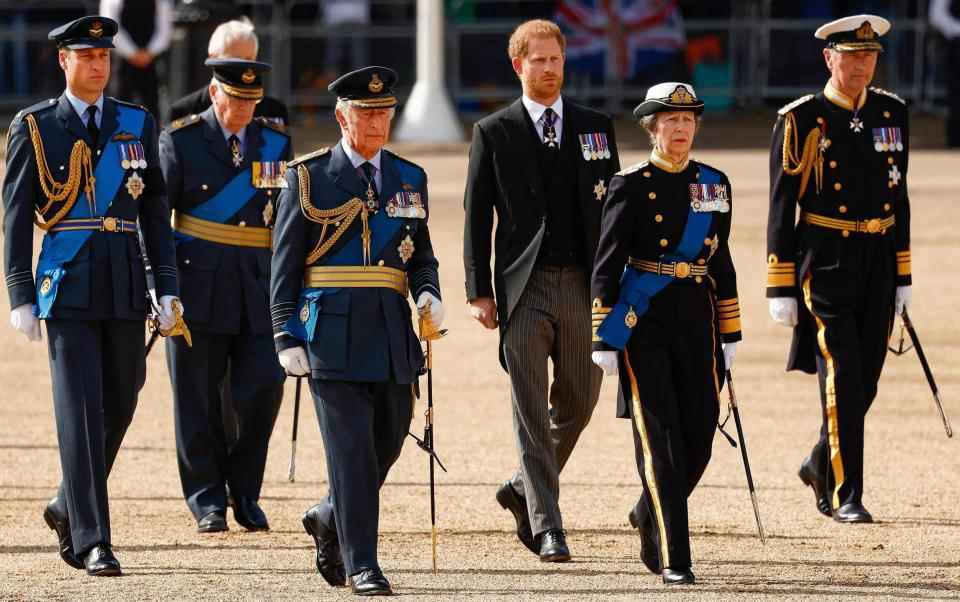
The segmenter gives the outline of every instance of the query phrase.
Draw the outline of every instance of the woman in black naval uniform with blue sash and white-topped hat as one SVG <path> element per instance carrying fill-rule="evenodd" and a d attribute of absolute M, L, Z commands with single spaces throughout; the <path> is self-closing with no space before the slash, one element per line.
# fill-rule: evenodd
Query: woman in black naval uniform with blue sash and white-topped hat
<path fill-rule="evenodd" d="M 643 480 L 630 522 L 644 564 L 668 585 L 694 581 L 687 497 L 710 460 L 741 338 L 730 182 L 689 157 L 702 111 L 677 82 L 653 86 L 634 110 L 654 149 L 610 181 L 592 283 L 593 360 L 619 370 L 617 415 L 632 419 Z"/>

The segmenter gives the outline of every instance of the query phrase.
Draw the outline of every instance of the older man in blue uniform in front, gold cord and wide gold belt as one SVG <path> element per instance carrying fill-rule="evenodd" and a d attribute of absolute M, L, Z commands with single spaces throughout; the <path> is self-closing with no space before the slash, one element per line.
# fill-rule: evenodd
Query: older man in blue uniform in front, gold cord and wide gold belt
<path fill-rule="evenodd" d="M 443 320 L 427 229 L 427 176 L 383 149 L 397 75 L 366 67 L 330 84 L 342 139 L 290 164 L 273 239 L 280 363 L 310 376 L 330 495 L 303 519 L 330 585 L 389 594 L 377 562 L 379 490 L 400 456 L 424 361 L 407 295 Z"/>

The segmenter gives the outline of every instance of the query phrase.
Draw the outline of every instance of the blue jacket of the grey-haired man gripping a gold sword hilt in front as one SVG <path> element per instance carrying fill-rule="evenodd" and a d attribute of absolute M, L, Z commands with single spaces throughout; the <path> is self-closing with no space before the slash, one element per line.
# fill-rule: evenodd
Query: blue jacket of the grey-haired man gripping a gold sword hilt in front
<path fill-rule="evenodd" d="M 323 290 L 317 303 L 317 323 L 310 340 L 290 334 L 288 323 L 298 319 L 303 301 L 305 258 L 320 238 L 321 226 L 304 217 L 297 166 L 310 175 L 310 202 L 317 209 L 332 209 L 351 198 L 365 198 L 366 185 L 338 144 L 294 161 L 287 170 L 287 185 L 280 194 L 273 236 L 271 313 L 278 350 L 305 346 L 313 378 L 358 382 L 392 380 L 412 383 L 423 367 L 423 353 L 413 330 L 412 312 L 405 297 L 386 288 Z M 374 248 L 371 264 L 404 270 L 416 299 L 429 291 L 438 299 L 437 260 L 430 242 L 427 218 L 389 217 L 384 207 L 398 193 L 419 193 L 427 205 L 427 176 L 422 168 L 384 149 L 381 155 L 380 211 L 371 216 L 374 239 L 395 232 Z M 313 265 L 361 265 L 361 220 L 354 220 L 337 244 Z M 329 234 L 329 232 L 328 232 Z M 401 242 L 410 237 L 412 255 L 404 261 Z M 375 243 L 376 244 L 376 243 Z M 409 247 L 406 247 L 408 249 Z"/>

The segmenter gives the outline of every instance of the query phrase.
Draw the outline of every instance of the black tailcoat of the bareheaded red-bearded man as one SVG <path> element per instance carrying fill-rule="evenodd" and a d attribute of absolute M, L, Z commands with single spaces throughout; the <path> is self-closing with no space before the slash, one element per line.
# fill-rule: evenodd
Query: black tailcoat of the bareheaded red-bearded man
<path fill-rule="evenodd" d="M 581 159 L 577 171 L 577 196 L 583 220 L 583 248 L 587 277 L 600 234 L 602 192 L 620 169 L 613 122 L 603 113 L 563 99 L 563 141 L 578 134 L 606 135 L 609 158 Z M 561 141 L 561 143 L 563 143 Z M 527 285 L 540 251 L 546 226 L 547 203 L 537 165 L 536 139 L 530 117 L 518 99 L 509 107 L 473 126 L 470 166 L 464 193 L 466 219 L 463 261 L 467 299 L 494 297 L 501 335 Z M 578 143 L 579 144 L 579 143 Z M 497 228 L 493 272 L 490 270 L 494 214 Z"/>

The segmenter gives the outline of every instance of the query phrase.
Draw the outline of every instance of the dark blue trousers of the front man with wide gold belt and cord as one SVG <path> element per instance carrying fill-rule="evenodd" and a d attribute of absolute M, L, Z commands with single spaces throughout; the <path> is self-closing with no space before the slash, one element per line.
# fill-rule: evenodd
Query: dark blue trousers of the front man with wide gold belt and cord
<path fill-rule="evenodd" d="M 400 457 L 413 417 L 411 385 L 310 379 L 330 483 L 321 517 L 333 516 L 348 575 L 379 568 L 380 487 Z M 329 522 L 328 522 L 329 526 Z"/>

